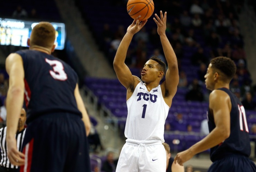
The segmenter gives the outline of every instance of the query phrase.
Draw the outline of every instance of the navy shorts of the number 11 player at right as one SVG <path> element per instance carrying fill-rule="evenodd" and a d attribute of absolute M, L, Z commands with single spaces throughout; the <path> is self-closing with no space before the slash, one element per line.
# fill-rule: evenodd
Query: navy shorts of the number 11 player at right
<path fill-rule="evenodd" d="M 246 156 L 233 154 L 214 161 L 208 172 L 256 172 L 256 166 Z"/>

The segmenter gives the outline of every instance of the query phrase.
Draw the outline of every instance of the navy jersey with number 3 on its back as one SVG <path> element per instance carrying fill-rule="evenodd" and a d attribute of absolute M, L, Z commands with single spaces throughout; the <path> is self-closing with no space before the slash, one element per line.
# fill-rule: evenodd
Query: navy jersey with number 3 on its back
<path fill-rule="evenodd" d="M 36 50 L 17 51 L 25 71 L 27 124 L 43 114 L 68 112 L 82 117 L 74 90 L 77 74 L 65 62 Z"/>

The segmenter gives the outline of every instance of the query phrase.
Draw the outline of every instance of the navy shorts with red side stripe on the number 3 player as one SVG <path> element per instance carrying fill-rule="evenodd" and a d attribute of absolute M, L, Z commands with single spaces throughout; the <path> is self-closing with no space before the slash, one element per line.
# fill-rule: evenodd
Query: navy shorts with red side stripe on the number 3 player
<path fill-rule="evenodd" d="M 21 172 L 91 172 L 84 123 L 78 115 L 47 114 L 28 124 Z"/>

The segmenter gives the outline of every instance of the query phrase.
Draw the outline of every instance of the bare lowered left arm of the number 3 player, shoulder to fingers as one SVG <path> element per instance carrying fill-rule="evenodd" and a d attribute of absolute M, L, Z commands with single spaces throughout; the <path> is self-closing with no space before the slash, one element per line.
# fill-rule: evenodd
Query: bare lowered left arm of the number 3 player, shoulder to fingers
<path fill-rule="evenodd" d="M 13 165 L 24 164 L 24 154 L 17 150 L 15 134 L 20 117 L 20 109 L 24 101 L 24 69 L 19 54 L 12 53 L 6 59 L 6 71 L 9 74 L 9 89 L 7 93 L 7 155 Z"/>

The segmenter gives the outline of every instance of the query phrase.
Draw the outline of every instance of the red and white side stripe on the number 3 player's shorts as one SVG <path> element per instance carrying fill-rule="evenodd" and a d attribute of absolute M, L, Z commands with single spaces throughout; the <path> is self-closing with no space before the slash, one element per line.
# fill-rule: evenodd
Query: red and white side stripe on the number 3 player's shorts
<path fill-rule="evenodd" d="M 31 163 L 32 163 L 33 145 L 34 145 L 34 138 L 29 143 L 26 144 L 26 146 L 22 151 L 25 154 L 25 164 L 20 166 L 20 172 L 30 172 Z"/>

